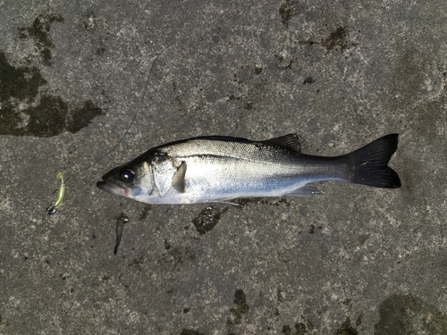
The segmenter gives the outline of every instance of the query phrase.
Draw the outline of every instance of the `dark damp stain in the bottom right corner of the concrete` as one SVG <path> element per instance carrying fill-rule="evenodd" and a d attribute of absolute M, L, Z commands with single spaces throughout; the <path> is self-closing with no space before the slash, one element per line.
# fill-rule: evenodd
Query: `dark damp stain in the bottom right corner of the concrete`
<path fill-rule="evenodd" d="M 447 315 L 411 295 L 392 295 L 379 306 L 375 335 L 447 334 Z"/>

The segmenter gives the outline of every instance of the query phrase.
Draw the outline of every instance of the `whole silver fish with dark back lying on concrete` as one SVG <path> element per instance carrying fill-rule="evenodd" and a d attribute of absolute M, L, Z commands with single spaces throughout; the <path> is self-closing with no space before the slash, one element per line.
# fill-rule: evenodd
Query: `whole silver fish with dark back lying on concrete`
<path fill-rule="evenodd" d="M 249 197 L 312 197 L 318 181 L 338 180 L 375 188 L 400 188 L 388 163 L 398 134 L 346 155 L 301 152 L 288 134 L 266 140 L 223 136 L 183 139 L 153 147 L 105 173 L 97 187 L 146 204 L 228 203 Z"/>

